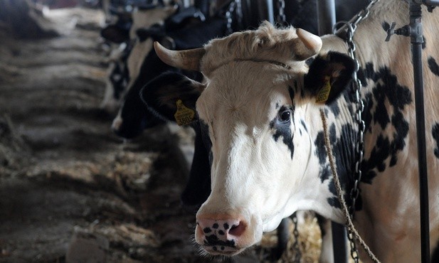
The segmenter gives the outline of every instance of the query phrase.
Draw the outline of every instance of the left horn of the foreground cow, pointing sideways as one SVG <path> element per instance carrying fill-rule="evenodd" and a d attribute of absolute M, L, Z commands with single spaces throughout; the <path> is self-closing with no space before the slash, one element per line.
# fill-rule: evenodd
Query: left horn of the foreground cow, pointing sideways
<path fill-rule="evenodd" d="M 204 48 L 169 50 L 157 41 L 154 42 L 154 49 L 164 63 L 183 70 L 199 71 L 201 58 L 206 53 Z"/>

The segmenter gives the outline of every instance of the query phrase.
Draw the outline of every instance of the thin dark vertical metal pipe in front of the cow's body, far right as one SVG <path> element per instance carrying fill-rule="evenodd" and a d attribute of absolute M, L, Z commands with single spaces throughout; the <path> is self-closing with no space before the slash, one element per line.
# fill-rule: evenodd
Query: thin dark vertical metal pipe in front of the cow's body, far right
<path fill-rule="evenodd" d="M 415 84 L 416 133 L 418 136 L 419 205 L 421 214 L 421 262 L 430 262 L 430 220 L 428 214 L 428 172 L 425 150 L 421 5 L 410 2 L 410 28 Z"/>

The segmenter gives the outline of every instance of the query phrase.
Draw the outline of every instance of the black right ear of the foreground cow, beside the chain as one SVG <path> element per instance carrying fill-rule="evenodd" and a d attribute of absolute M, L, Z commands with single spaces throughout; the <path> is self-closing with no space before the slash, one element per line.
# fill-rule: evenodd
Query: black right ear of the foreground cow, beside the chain
<path fill-rule="evenodd" d="M 354 60 L 347 55 L 336 52 L 318 55 L 305 75 L 305 92 L 317 103 L 329 104 L 348 87 L 354 70 Z"/>

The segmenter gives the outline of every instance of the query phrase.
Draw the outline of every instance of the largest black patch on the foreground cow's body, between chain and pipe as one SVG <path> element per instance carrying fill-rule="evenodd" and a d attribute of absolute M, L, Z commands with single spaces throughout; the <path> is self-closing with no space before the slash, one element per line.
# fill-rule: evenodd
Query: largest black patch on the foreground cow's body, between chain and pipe
<path fill-rule="evenodd" d="M 412 93 L 403 85 L 399 85 L 396 75 L 386 68 L 374 71 L 371 63 L 366 64 L 366 80 L 374 82 L 372 92 L 366 95 L 363 119 L 366 132 L 378 133 L 374 148 L 371 149 L 369 159 L 361 163 L 363 173 L 361 181 L 371 183 L 377 171 L 386 169 L 386 160 L 390 158 L 388 166 L 395 166 L 398 162 L 398 152 L 406 146 L 408 122 L 404 117 L 403 109 L 413 102 Z M 390 109 L 389 111 L 387 109 Z M 376 127 L 376 124 L 379 127 Z M 384 132 L 387 127 L 393 126 L 395 132 Z M 381 128 L 381 131 L 378 129 Z"/>

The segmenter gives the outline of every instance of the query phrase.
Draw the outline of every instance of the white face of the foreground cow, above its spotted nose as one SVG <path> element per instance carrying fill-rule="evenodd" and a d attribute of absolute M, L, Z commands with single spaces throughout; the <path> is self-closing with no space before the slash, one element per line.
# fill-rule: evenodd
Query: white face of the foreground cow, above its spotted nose
<path fill-rule="evenodd" d="M 196 103 L 213 156 L 212 192 L 198 217 L 240 213 L 260 236 L 297 210 L 288 200 L 306 183 L 312 144 L 298 123 L 305 107 L 292 97 L 305 63 L 301 69 L 292 75 L 279 65 L 245 61 L 213 73 Z"/>

